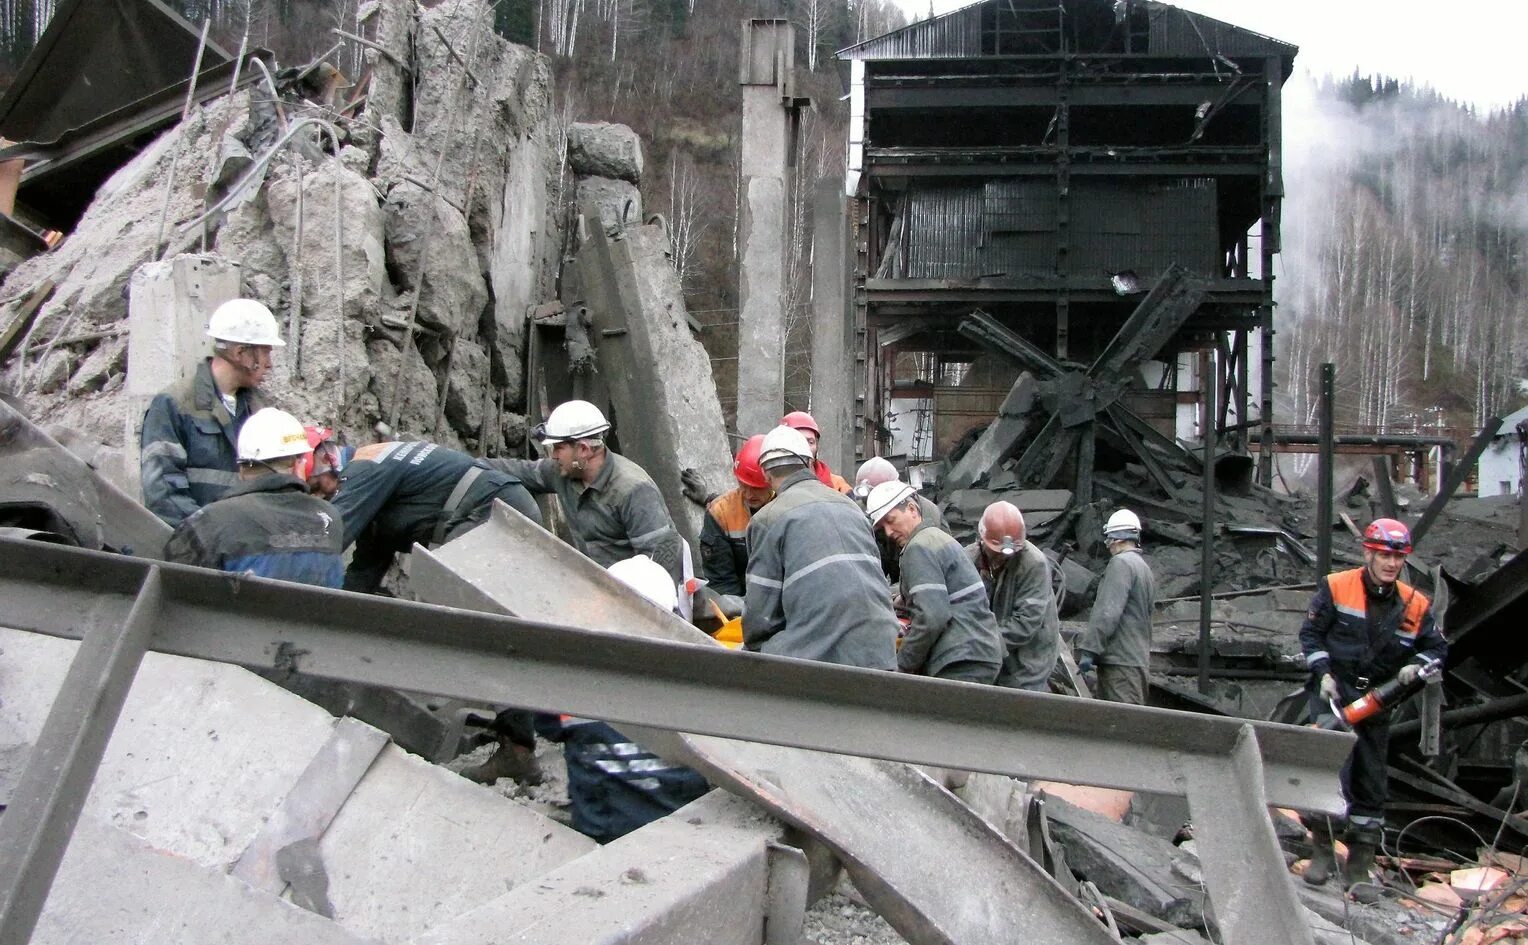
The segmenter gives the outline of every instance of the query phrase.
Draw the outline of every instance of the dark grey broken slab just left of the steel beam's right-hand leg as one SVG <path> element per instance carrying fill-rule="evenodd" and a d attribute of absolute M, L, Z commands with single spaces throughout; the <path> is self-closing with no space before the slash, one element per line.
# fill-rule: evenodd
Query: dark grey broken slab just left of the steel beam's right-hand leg
<path fill-rule="evenodd" d="M 1045 810 L 1051 836 L 1067 849 L 1067 864 L 1079 879 L 1164 922 L 1184 928 L 1204 925 L 1203 887 L 1174 873 L 1174 864 L 1187 853 L 1060 798 L 1047 798 Z"/>

